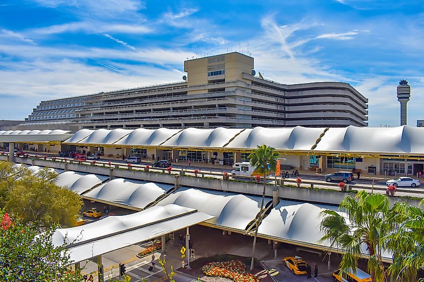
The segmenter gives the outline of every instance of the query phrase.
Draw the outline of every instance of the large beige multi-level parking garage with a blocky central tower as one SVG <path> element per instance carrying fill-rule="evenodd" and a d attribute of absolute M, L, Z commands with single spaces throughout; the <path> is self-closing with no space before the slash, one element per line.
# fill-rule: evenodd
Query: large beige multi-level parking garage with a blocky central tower
<path fill-rule="evenodd" d="M 19 129 L 367 126 L 368 99 L 347 83 L 265 80 L 237 52 L 184 70 L 184 82 L 42 101 Z"/>

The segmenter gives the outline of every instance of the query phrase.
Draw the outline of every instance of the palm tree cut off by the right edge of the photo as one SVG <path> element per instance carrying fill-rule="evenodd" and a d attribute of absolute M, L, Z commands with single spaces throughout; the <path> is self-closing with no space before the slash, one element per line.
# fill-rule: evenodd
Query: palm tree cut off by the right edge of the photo
<path fill-rule="evenodd" d="M 396 230 L 387 236 L 386 246 L 393 253 L 393 263 L 387 272 L 393 281 L 398 277 L 415 281 L 417 269 L 424 264 L 424 214 L 419 207 L 396 202 L 391 218 Z"/>

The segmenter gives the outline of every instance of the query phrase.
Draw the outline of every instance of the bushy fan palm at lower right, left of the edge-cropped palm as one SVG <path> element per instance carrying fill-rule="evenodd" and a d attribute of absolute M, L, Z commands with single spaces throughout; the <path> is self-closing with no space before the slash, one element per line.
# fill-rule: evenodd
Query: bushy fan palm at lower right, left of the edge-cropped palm
<path fill-rule="evenodd" d="M 340 262 L 341 272 L 356 271 L 357 260 L 368 252 L 368 271 L 371 281 L 385 279 L 381 254 L 385 250 L 386 236 L 393 231 L 390 220 L 388 197 L 383 194 L 368 194 L 364 190 L 355 198 L 346 196 L 340 203 L 340 210 L 346 217 L 334 210 L 324 210 L 320 229 L 331 248 L 343 251 Z M 363 248 L 366 247 L 364 251 Z"/>

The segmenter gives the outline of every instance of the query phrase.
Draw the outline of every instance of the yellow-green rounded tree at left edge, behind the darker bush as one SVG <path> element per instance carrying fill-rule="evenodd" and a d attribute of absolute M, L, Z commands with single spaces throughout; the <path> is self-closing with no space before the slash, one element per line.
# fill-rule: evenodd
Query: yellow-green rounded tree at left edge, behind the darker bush
<path fill-rule="evenodd" d="M 0 162 L 0 191 L 4 191 L 3 205 L 23 224 L 34 224 L 41 229 L 53 225 L 74 226 L 82 207 L 76 193 L 55 184 L 57 174 L 42 169 L 37 174 L 25 167 L 5 166 Z M 2 177 L 2 166 L 4 177 Z"/>

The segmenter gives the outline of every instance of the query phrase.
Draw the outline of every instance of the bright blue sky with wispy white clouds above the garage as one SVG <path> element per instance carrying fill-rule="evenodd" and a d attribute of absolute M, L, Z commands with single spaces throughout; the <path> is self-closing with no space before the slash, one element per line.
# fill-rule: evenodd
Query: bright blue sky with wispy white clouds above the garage
<path fill-rule="evenodd" d="M 186 58 L 251 53 L 293 84 L 343 81 L 369 98 L 369 125 L 399 125 L 396 86 L 424 119 L 422 1 L 0 0 L 0 119 L 41 100 L 180 81 Z"/>

